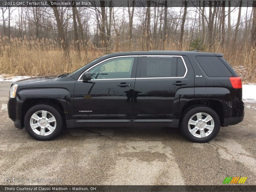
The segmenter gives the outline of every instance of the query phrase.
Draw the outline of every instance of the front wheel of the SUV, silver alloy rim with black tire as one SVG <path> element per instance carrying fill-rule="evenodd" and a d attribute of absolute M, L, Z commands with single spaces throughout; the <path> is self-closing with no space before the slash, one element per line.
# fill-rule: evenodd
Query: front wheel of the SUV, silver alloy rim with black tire
<path fill-rule="evenodd" d="M 37 140 L 52 140 L 60 134 L 63 120 L 57 107 L 39 104 L 28 109 L 24 125 L 31 137 Z"/>

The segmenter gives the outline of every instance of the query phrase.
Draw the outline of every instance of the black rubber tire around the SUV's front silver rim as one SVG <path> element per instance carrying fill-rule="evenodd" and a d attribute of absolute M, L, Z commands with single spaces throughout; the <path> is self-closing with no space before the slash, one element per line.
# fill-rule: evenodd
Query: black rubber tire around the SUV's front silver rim
<path fill-rule="evenodd" d="M 60 112 L 57 109 L 58 108 L 56 106 L 54 106 L 54 105 L 50 106 L 50 105 L 47 105 L 47 104 L 38 104 L 38 105 L 35 105 L 35 106 L 31 107 L 30 109 L 28 109 L 28 111 L 27 111 L 27 113 L 26 113 L 26 115 L 24 117 L 24 126 L 25 126 L 25 129 L 28 132 L 28 134 L 31 137 L 33 137 L 34 139 L 42 140 L 42 141 L 52 140 L 55 137 L 57 137 L 60 134 L 60 132 L 62 130 L 62 126 L 63 126 L 62 117 L 60 115 Z M 34 113 L 36 113 L 36 112 L 38 112 L 40 110 L 44 110 L 44 111 L 47 111 L 47 112 L 51 113 L 54 116 L 55 120 L 56 120 L 56 122 L 53 122 L 53 125 L 56 124 L 56 127 L 55 127 L 54 131 L 50 132 L 50 129 L 48 129 L 48 128 L 46 129 L 45 128 L 45 130 L 47 130 L 45 132 L 48 133 L 49 135 L 44 135 L 44 136 L 39 135 L 36 132 L 40 132 L 39 130 L 41 130 L 41 128 L 40 127 L 36 128 L 37 131 L 34 132 L 32 130 L 32 128 L 31 128 L 31 126 L 30 126 L 30 118 L 31 118 L 31 116 Z M 47 113 L 47 116 L 49 116 L 49 115 L 50 114 Z M 39 113 L 38 116 L 40 117 L 40 113 Z M 50 115 L 50 117 L 51 117 L 51 115 Z M 36 122 L 38 122 L 38 121 L 36 121 Z M 49 123 L 49 124 L 52 125 L 52 123 Z"/>

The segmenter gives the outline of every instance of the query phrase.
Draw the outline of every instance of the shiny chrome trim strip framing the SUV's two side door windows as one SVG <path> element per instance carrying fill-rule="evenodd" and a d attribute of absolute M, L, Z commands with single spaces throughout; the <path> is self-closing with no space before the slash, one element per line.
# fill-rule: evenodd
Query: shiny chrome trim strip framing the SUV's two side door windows
<path fill-rule="evenodd" d="M 116 57 L 111 57 L 108 59 L 105 59 L 103 61 L 100 61 L 99 63 L 93 65 L 92 67 L 88 68 L 87 70 L 85 70 L 78 78 L 77 81 L 83 81 L 82 79 L 80 79 L 82 77 L 82 75 L 86 72 L 89 71 L 91 68 L 96 67 L 97 65 L 99 65 L 100 63 L 103 63 L 107 60 L 111 60 L 111 59 L 116 59 L 116 58 L 122 58 L 122 57 L 180 57 L 181 60 L 183 61 L 183 64 L 185 66 L 186 72 L 184 74 L 184 76 L 182 77 L 141 77 L 141 78 L 119 78 L 119 79 L 91 79 L 91 81 L 101 81 L 101 80 L 126 80 L 126 79 L 173 79 L 173 78 L 184 78 L 187 73 L 188 73 L 188 68 L 187 65 L 183 59 L 183 57 L 181 55 L 124 55 L 124 56 L 116 56 Z"/>

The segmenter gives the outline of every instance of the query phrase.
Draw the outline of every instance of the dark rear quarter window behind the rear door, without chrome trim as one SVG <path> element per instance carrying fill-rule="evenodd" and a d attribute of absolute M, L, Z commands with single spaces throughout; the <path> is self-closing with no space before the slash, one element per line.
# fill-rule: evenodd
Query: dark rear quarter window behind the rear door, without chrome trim
<path fill-rule="evenodd" d="M 216 56 L 197 56 L 196 60 L 209 77 L 233 76 L 224 63 Z"/>

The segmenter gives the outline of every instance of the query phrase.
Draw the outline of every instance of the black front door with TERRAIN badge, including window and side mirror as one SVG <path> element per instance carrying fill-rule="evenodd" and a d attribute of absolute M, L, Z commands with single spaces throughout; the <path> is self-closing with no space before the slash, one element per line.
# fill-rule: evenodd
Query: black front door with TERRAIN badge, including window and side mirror
<path fill-rule="evenodd" d="M 131 126 L 137 56 L 107 59 L 89 71 L 91 81 L 75 84 L 76 127 Z"/>

